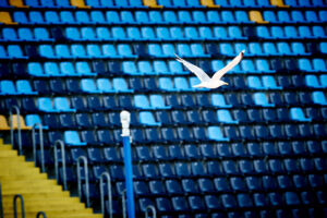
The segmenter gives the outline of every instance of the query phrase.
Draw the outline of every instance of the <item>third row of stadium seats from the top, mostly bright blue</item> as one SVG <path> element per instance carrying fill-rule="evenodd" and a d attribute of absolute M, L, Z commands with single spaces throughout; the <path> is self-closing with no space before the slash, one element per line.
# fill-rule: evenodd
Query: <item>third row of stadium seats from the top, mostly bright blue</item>
<path fill-rule="evenodd" d="M 264 28 L 264 29 L 263 29 Z M 111 34 L 110 34 L 111 32 Z M 264 35 L 265 27 L 258 28 L 258 35 Z M 96 34 L 95 34 L 96 33 Z M 286 26 L 282 29 L 279 26 L 271 27 L 271 35 L 277 38 L 326 38 L 325 31 L 322 26 Z M 107 27 L 96 27 L 95 32 L 90 27 L 66 27 L 65 37 L 70 40 L 78 41 L 108 41 L 108 40 L 135 40 L 135 41 L 152 41 L 152 40 L 232 40 L 246 39 L 242 34 L 242 29 L 238 26 L 201 26 L 201 27 L 112 27 L 110 31 Z M 266 36 L 264 36 L 266 37 Z M 36 27 L 34 34 L 29 28 L 22 27 L 17 29 L 5 27 L 2 29 L 3 41 L 52 41 L 49 33 L 44 27 Z"/>

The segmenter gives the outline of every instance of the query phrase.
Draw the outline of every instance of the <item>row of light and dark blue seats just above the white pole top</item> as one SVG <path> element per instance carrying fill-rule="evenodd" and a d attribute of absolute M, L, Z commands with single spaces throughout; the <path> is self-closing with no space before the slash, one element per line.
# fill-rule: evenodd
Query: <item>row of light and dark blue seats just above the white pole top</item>
<path fill-rule="evenodd" d="M 132 90 L 131 90 L 132 92 Z M 95 93 L 96 94 L 96 93 Z M 296 105 L 296 98 L 295 96 L 290 96 L 292 95 L 291 93 L 289 93 L 288 95 L 286 95 L 284 99 L 286 102 L 290 102 L 290 105 Z M 326 97 L 325 94 L 323 92 L 314 92 L 312 94 L 313 96 L 313 102 L 317 104 L 317 105 L 326 105 Z M 245 94 L 245 95 L 240 95 L 240 96 L 228 96 L 228 104 L 226 102 L 226 100 L 223 99 L 222 95 L 219 94 L 213 94 L 211 96 L 211 104 L 207 104 L 208 107 L 220 107 L 220 108 L 228 108 L 231 105 L 232 106 L 240 106 L 241 104 L 244 104 L 244 106 L 261 106 L 261 107 L 275 107 L 275 102 L 272 100 L 272 102 L 269 102 L 270 99 L 264 94 L 264 93 L 254 93 L 253 95 L 251 94 Z M 238 97 L 240 97 L 241 101 L 239 101 Z M 275 97 L 275 96 L 271 96 Z M 306 97 L 306 96 L 302 96 L 302 97 Z M 168 96 L 169 98 L 169 96 Z M 175 101 L 173 104 L 169 104 L 169 100 L 177 100 L 177 98 L 174 99 L 164 99 L 164 96 L 161 95 L 143 95 L 143 94 L 137 94 L 134 95 L 133 97 L 128 97 L 128 96 L 122 96 L 119 98 L 120 101 L 120 106 L 123 107 L 129 107 L 129 109 L 142 109 L 142 110 L 154 110 L 154 109 L 170 109 L 170 108 L 179 108 L 179 101 Z M 276 99 L 280 98 L 280 96 L 275 97 Z M 78 100 L 81 99 L 81 100 Z M 101 102 L 99 100 L 99 98 L 96 98 L 94 96 L 90 96 L 89 98 L 87 98 L 88 104 L 94 104 L 94 106 L 90 106 L 92 108 L 96 108 L 99 107 L 98 110 L 104 109 L 101 107 Z M 107 97 L 106 98 L 107 102 L 105 101 L 104 104 L 108 104 L 108 102 L 112 102 L 114 101 L 114 98 L 110 98 Z M 189 101 L 190 100 L 190 101 Z M 201 99 L 199 100 L 207 100 L 207 99 Z M 307 100 L 307 99 L 305 99 Z M 83 102 L 82 98 L 78 97 L 72 97 L 71 98 L 71 104 L 75 107 L 74 110 L 82 110 L 83 108 L 85 108 L 85 104 Z M 133 101 L 133 104 L 132 104 Z M 181 96 L 181 101 L 182 102 L 187 102 L 185 104 L 185 107 L 193 107 L 195 106 L 194 100 L 192 99 L 192 96 L 190 95 L 184 95 Z M 66 111 L 70 112 L 71 111 L 71 106 L 69 104 L 69 100 L 66 97 L 55 97 L 53 98 L 53 106 L 51 102 L 51 98 L 48 97 L 40 97 L 37 99 L 38 102 L 38 109 L 40 111 L 47 111 L 47 112 L 59 112 L 59 111 Z M 278 102 L 278 101 L 277 101 Z M 280 104 L 280 102 L 278 102 Z M 107 107 L 109 107 L 110 105 L 108 105 Z M 117 106 L 117 104 L 112 104 L 112 108 Z"/>

